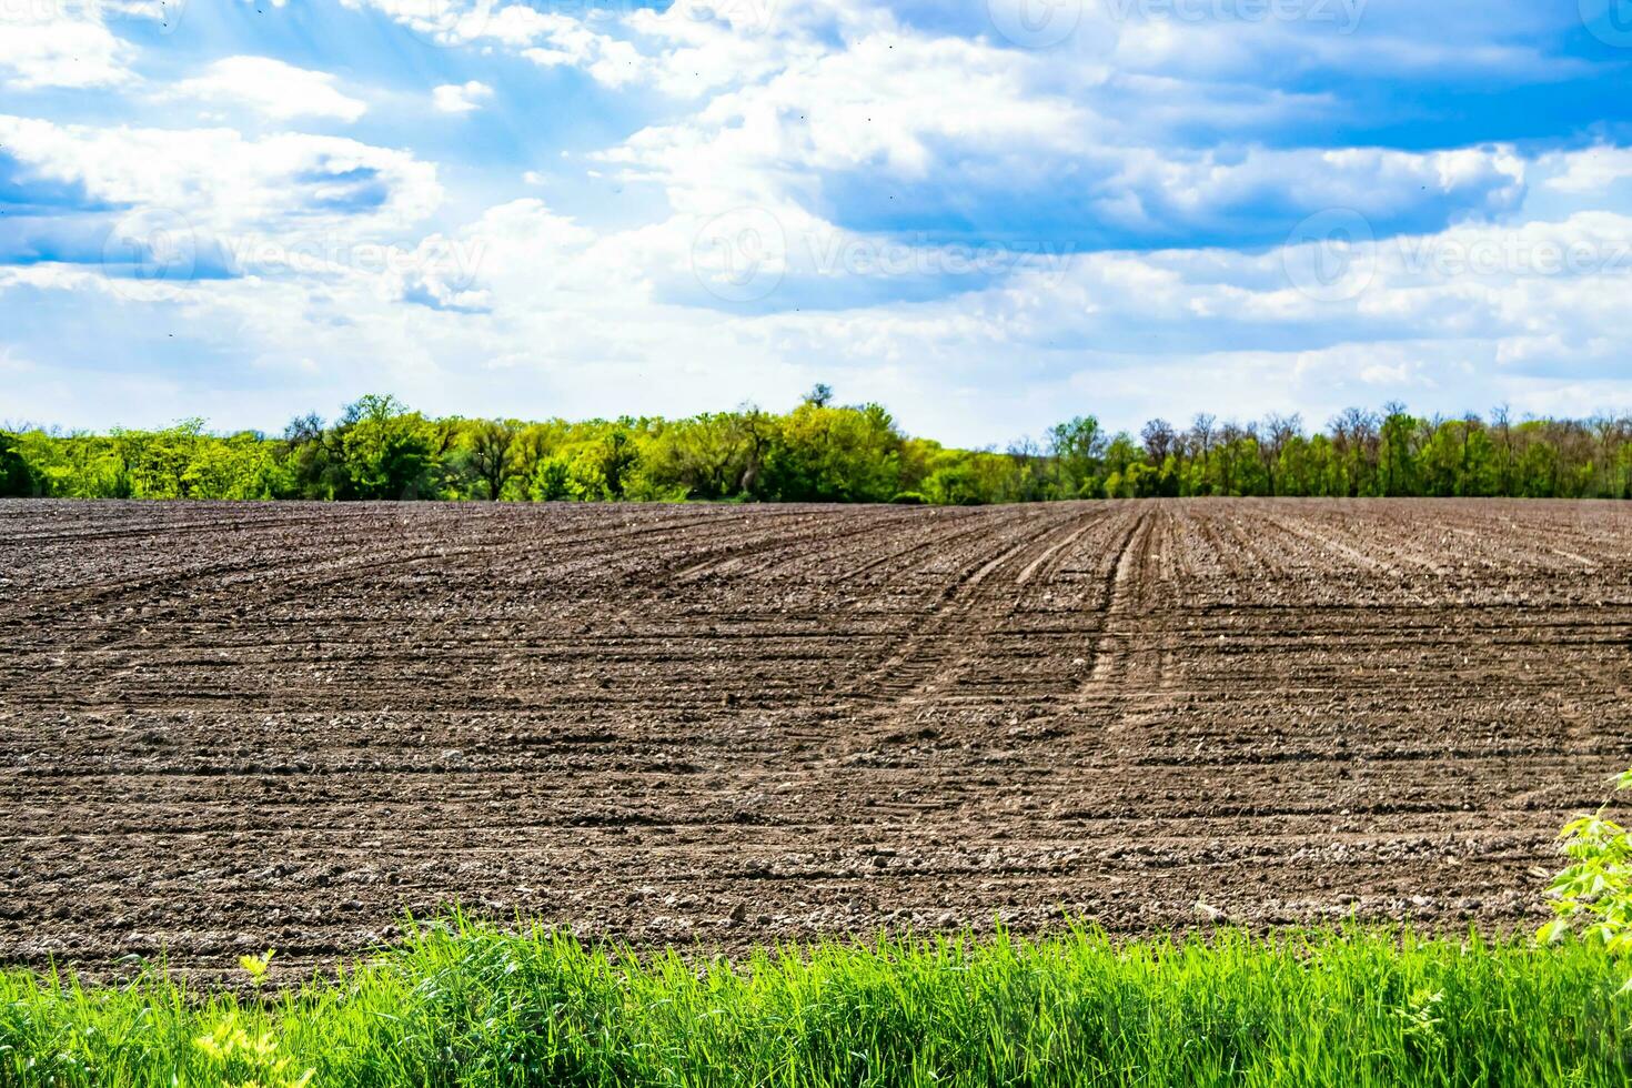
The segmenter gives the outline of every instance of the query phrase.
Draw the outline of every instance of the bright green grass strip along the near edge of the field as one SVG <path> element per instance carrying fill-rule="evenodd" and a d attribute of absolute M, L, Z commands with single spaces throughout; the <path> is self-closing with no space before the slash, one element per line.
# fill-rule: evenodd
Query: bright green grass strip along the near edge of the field
<path fill-rule="evenodd" d="M 0 974 L 0 1083 L 1625 1085 L 1619 984 L 1591 946 L 1359 930 L 730 966 L 454 922 L 263 1000 Z"/>

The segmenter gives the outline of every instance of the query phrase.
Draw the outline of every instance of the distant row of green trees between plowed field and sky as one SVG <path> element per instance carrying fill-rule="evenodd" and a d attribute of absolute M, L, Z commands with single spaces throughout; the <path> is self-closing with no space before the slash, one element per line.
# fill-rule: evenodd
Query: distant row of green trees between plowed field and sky
<path fill-rule="evenodd" d="M 906 436 L 880 405 L 818 385 L 793 411 L 689 419 L 432 419 L 369 395 L 281 436 L 0 431 L 0 494 L 119 499 L 506 499 L 927 502 L 973 506 L 1159 496 L 1632 498 L 1632 418 L 1420 418 L 1348 409 L 1310 432 L 1152 419 L 1134 436 L 1093 416 L 1007 450 Z"/>

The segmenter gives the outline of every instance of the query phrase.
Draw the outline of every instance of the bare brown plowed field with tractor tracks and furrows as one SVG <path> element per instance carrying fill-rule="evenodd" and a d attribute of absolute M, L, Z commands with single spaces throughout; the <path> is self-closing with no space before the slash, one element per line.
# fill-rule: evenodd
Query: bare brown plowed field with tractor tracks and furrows
<path fill-rule="evenodd" d="M 1632 506 L 10 502 L 0 959 L 1505 928 L 1629 651 Z"/>

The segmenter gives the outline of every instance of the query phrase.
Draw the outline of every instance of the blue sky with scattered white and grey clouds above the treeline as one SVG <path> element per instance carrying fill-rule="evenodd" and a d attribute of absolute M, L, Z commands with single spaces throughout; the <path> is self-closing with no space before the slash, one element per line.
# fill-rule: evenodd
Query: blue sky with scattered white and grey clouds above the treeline
<path fill-rule="evenodd" d="M 0 421 L 1632 409 L 1632 0 L 0 0 Z"/>

